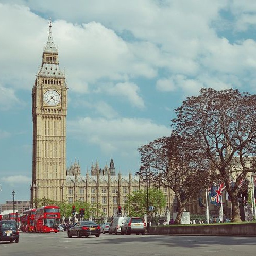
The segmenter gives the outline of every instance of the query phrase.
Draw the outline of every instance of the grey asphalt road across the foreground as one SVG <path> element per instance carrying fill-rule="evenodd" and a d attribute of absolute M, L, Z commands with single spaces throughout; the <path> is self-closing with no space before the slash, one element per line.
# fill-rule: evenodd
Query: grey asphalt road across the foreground
<path fill-rule="evenodd" d="M 1 256 L 254 256 L 255 237 L 108 235 L 67 238 L 20 233 L 20 242 L 0 242 Z"/>

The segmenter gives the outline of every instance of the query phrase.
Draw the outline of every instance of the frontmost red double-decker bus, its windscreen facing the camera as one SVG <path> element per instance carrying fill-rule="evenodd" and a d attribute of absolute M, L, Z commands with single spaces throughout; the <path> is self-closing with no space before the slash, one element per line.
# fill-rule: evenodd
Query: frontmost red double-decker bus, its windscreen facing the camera
<path fill-rule="evenodd" d="M 34 232 L 59 232 L 60 208 L 58 206 L 43 206 L 36 209 Z"/>

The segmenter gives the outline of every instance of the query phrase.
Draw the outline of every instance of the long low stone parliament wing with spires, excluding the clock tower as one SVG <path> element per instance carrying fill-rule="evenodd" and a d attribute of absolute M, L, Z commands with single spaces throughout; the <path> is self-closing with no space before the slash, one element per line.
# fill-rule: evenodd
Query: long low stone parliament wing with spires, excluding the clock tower
<path fill-rule="evenodd" d="M 128 194 L 140 189 L 146 190 L 146 183 L 131 172 L 128 175 L 122 175 L 121 172 L 116 175 L 112 158 L 109 167 L 105 165 L 104 168 L 100 168 L 96 161 L 95 165 L 92 165 L 91 175 L 88 171 L 86 175 L 81 175 L 76 169 L 79 169 L 79 164 L 75 162 L 67 171 L 66 202 L 96 203 L 104 216 L 116 216 L 118 206 L 124 206 Z M 149 187 L 156 185 L 149 184 Z M 161 187 L 161 190 L 166 197 L 166 209 L 172 209 L 174 193 L 167 187 Z"/>

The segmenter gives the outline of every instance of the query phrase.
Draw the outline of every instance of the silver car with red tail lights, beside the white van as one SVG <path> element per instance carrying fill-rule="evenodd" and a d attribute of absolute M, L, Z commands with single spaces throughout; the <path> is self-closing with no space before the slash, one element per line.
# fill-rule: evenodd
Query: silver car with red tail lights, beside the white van
<path fill-rule="evenodd" d="M 121 235 L 135 233 L 145 235 L 146 223 L 143 218 L 127 218 L 121 227 Z"/>

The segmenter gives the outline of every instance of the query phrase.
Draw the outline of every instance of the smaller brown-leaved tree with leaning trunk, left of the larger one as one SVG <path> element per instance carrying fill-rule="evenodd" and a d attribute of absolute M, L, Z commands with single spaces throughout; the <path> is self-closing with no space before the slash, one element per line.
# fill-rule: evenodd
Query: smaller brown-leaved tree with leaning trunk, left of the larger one
<path fill-rule="evenodd" d="M 170 137 L 159 138 L 139 148 L 141 178 L 149 175 L 151 182 L 169 187 L 177 199 L 175 224 L 181 223 L 181 216 L 187 202 L 206 186 L 209 166 L 201 152 L 195 153 L 188 145 L 193 141 L 185 140 L 172 133 Z"/>

